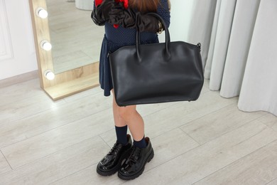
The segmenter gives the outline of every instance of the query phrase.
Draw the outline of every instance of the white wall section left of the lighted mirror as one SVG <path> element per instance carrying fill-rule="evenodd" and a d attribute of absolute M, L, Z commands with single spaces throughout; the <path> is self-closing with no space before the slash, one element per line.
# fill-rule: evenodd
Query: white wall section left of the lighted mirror
<path fill-rule="evenodd" d="M 0 80 L 37 69 L 28 0 L 0 0 Z"/>

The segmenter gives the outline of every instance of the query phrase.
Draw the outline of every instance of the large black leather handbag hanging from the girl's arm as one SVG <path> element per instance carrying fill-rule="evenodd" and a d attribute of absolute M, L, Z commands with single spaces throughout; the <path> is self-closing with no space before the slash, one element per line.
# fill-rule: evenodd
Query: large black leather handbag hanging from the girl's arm
<path fill-rule="evenodd" d="M 163 18 L 165 43 L 124 46 L 110 53 L 114 95 L 119 106 L 159 102 L 192 101 L 200 96 L 204 83 L 201 45 L 170 42 Z"/>

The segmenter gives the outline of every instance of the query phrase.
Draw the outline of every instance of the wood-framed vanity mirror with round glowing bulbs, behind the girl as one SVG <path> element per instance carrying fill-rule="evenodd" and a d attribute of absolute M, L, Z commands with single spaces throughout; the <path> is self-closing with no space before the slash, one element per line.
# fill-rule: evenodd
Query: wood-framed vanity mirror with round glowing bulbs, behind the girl
<path fill-rule="evenodd" d="M 99 85 L 104 27 L 94 25 L 91 11 L 67 0 L 29 0 L 29 4 L 41 88 L 58 100 Z"/>

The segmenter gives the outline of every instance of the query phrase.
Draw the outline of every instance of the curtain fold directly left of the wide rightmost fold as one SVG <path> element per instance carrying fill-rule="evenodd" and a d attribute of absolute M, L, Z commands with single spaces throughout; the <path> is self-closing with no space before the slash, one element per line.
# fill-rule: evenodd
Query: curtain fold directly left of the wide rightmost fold
<path fill-rule="evenodd" d="M 239 95 L 260 0 L 237 0 L 220 95 Z"/>

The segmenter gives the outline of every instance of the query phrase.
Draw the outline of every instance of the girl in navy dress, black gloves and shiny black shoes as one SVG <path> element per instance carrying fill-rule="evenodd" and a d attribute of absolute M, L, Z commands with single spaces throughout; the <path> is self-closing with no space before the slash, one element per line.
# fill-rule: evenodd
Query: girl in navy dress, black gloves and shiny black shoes
<path fill-rule="evenodd" d="M 94 23 L 105 26 L 99 60 L 99 83 L 105 96 L 109 96 L 110 91 L 114 93 L 108 53 L 122 46 L 135 45 L 136 29 L 141 31 L 142 44 L 158 43 L 157 33 L 160 33 L 163 27 L 157 18 L 148 16 L 146 14 L 148 12 L 158 13 L 163 17 L 166 26 L 170 24 L 170 2 L 168 0 L 118 1 L 95 0 L 92 11 Z M 144 137 L 143 118 L 136 111 L 136 105 L 119 107 L 114 98 L 113 114 L 116 143 L 97 165 L 97 173 L 109 176 L 118 171 L 120 179 L 135 179 L 143 173 L 146 162 L 150 162 L 154 156 L 150 139 Z M 134 142 L 127 134 L 128 128 Z"/>

